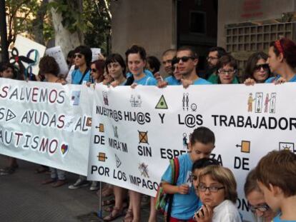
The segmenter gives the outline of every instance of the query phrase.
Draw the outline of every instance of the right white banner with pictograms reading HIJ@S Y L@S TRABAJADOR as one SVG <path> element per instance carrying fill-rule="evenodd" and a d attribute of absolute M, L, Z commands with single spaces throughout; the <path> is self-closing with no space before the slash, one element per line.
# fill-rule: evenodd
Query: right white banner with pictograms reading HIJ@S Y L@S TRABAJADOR
<path fill-rule="evenodd" d="M 268 151 L 296 151 L 295 94 L 295 84 L 99 86 L 89 179 L 155 196 L 169 159 L 187 153 L 190 133 L 206 126 L 216 136 L 212 157 L 235 173 L 237 207 L 251 221 L 245 177 Z"/>

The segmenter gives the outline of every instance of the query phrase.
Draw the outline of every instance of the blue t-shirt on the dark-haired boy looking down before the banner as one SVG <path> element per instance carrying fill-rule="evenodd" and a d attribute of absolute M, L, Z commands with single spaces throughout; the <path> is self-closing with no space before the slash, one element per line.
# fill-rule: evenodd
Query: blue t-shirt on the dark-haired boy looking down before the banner
<path fill-rule="evenodd" d="M 195 194 L 194 187 L 191 181 L 192 172 L 192 160 L 189 153 L 181 155 L 179 159 L 179 177 L 177 180 L 177 186 L 187 183 L 189 188 L 189 193 L 180 194 L 174 193 L 174 198 L 172 202 L 172 213 L 173 218 L 178 218 L 181 220 L 189 220 L 194 216 L 194 211 L 197 210 L 199 206 L 199 198 Z M 169 165 L 167 170 L 162 176 L 162 181 L 172 183 L 172 168 Z"/>

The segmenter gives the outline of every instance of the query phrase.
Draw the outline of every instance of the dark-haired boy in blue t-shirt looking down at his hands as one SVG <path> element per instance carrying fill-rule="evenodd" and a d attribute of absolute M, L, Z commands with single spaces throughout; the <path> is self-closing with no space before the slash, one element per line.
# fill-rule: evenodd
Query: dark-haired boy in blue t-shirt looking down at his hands
<path fill-rule="evenodd" d="M 194 221 L 194 211 L 199 206 L 197 197 L 191 182 L 192 165 L 201 158 L 209 158 L 214 149 L 214 133 L 206 127 L 194 129 L 189 141 L 189 152 L 178 156 L 179 176 L 176 185 L 172 185 L 172 166 L 169 165 L 162 176 L 162 187 L 164 193 L 174 194 L 172 198 L 172 210 L 170 215 L 168 207 L 165 217 L 169 217 L 170 222 Z"/>

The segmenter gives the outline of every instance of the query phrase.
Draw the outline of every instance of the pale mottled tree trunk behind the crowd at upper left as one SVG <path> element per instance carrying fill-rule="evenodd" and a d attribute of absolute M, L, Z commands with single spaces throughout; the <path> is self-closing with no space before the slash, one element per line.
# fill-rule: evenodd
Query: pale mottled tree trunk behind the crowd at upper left
<path fill-rule="evenodd" d="M 49 0 L 49 2 L 54 0 Z M 82 0 L 76 0 L 81 2 Z M 82 5 L 82 4 L 81 4 Z M 82 9 L 81 9 L 82 10 Z M 77 46 L 82 45 L 84 42 L 83 34 L 79 31 L 71 33 L 65 29 L 61 24 L 63 20 L 61 14 L 57 13 L 55 9 L 51 8 L 52 23 L 54 24 L 54 43 L 55 46 L 61 46 L 61 50 L 66 58 L 70 50 L 75 49 Z"/>

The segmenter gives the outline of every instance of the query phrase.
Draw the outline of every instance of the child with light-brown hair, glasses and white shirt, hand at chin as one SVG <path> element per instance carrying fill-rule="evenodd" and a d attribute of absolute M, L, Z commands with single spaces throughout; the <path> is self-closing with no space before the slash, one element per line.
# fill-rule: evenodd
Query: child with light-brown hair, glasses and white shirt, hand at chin
<path fill-rule="evenodd" d="M 230 169 L 222 166 L 207 166 L 199 173 L 197 187 L 203 206 L 194 214 L 198 222 L 240 222 L 240 213 L 235 206 L 237 183 Z"/>

